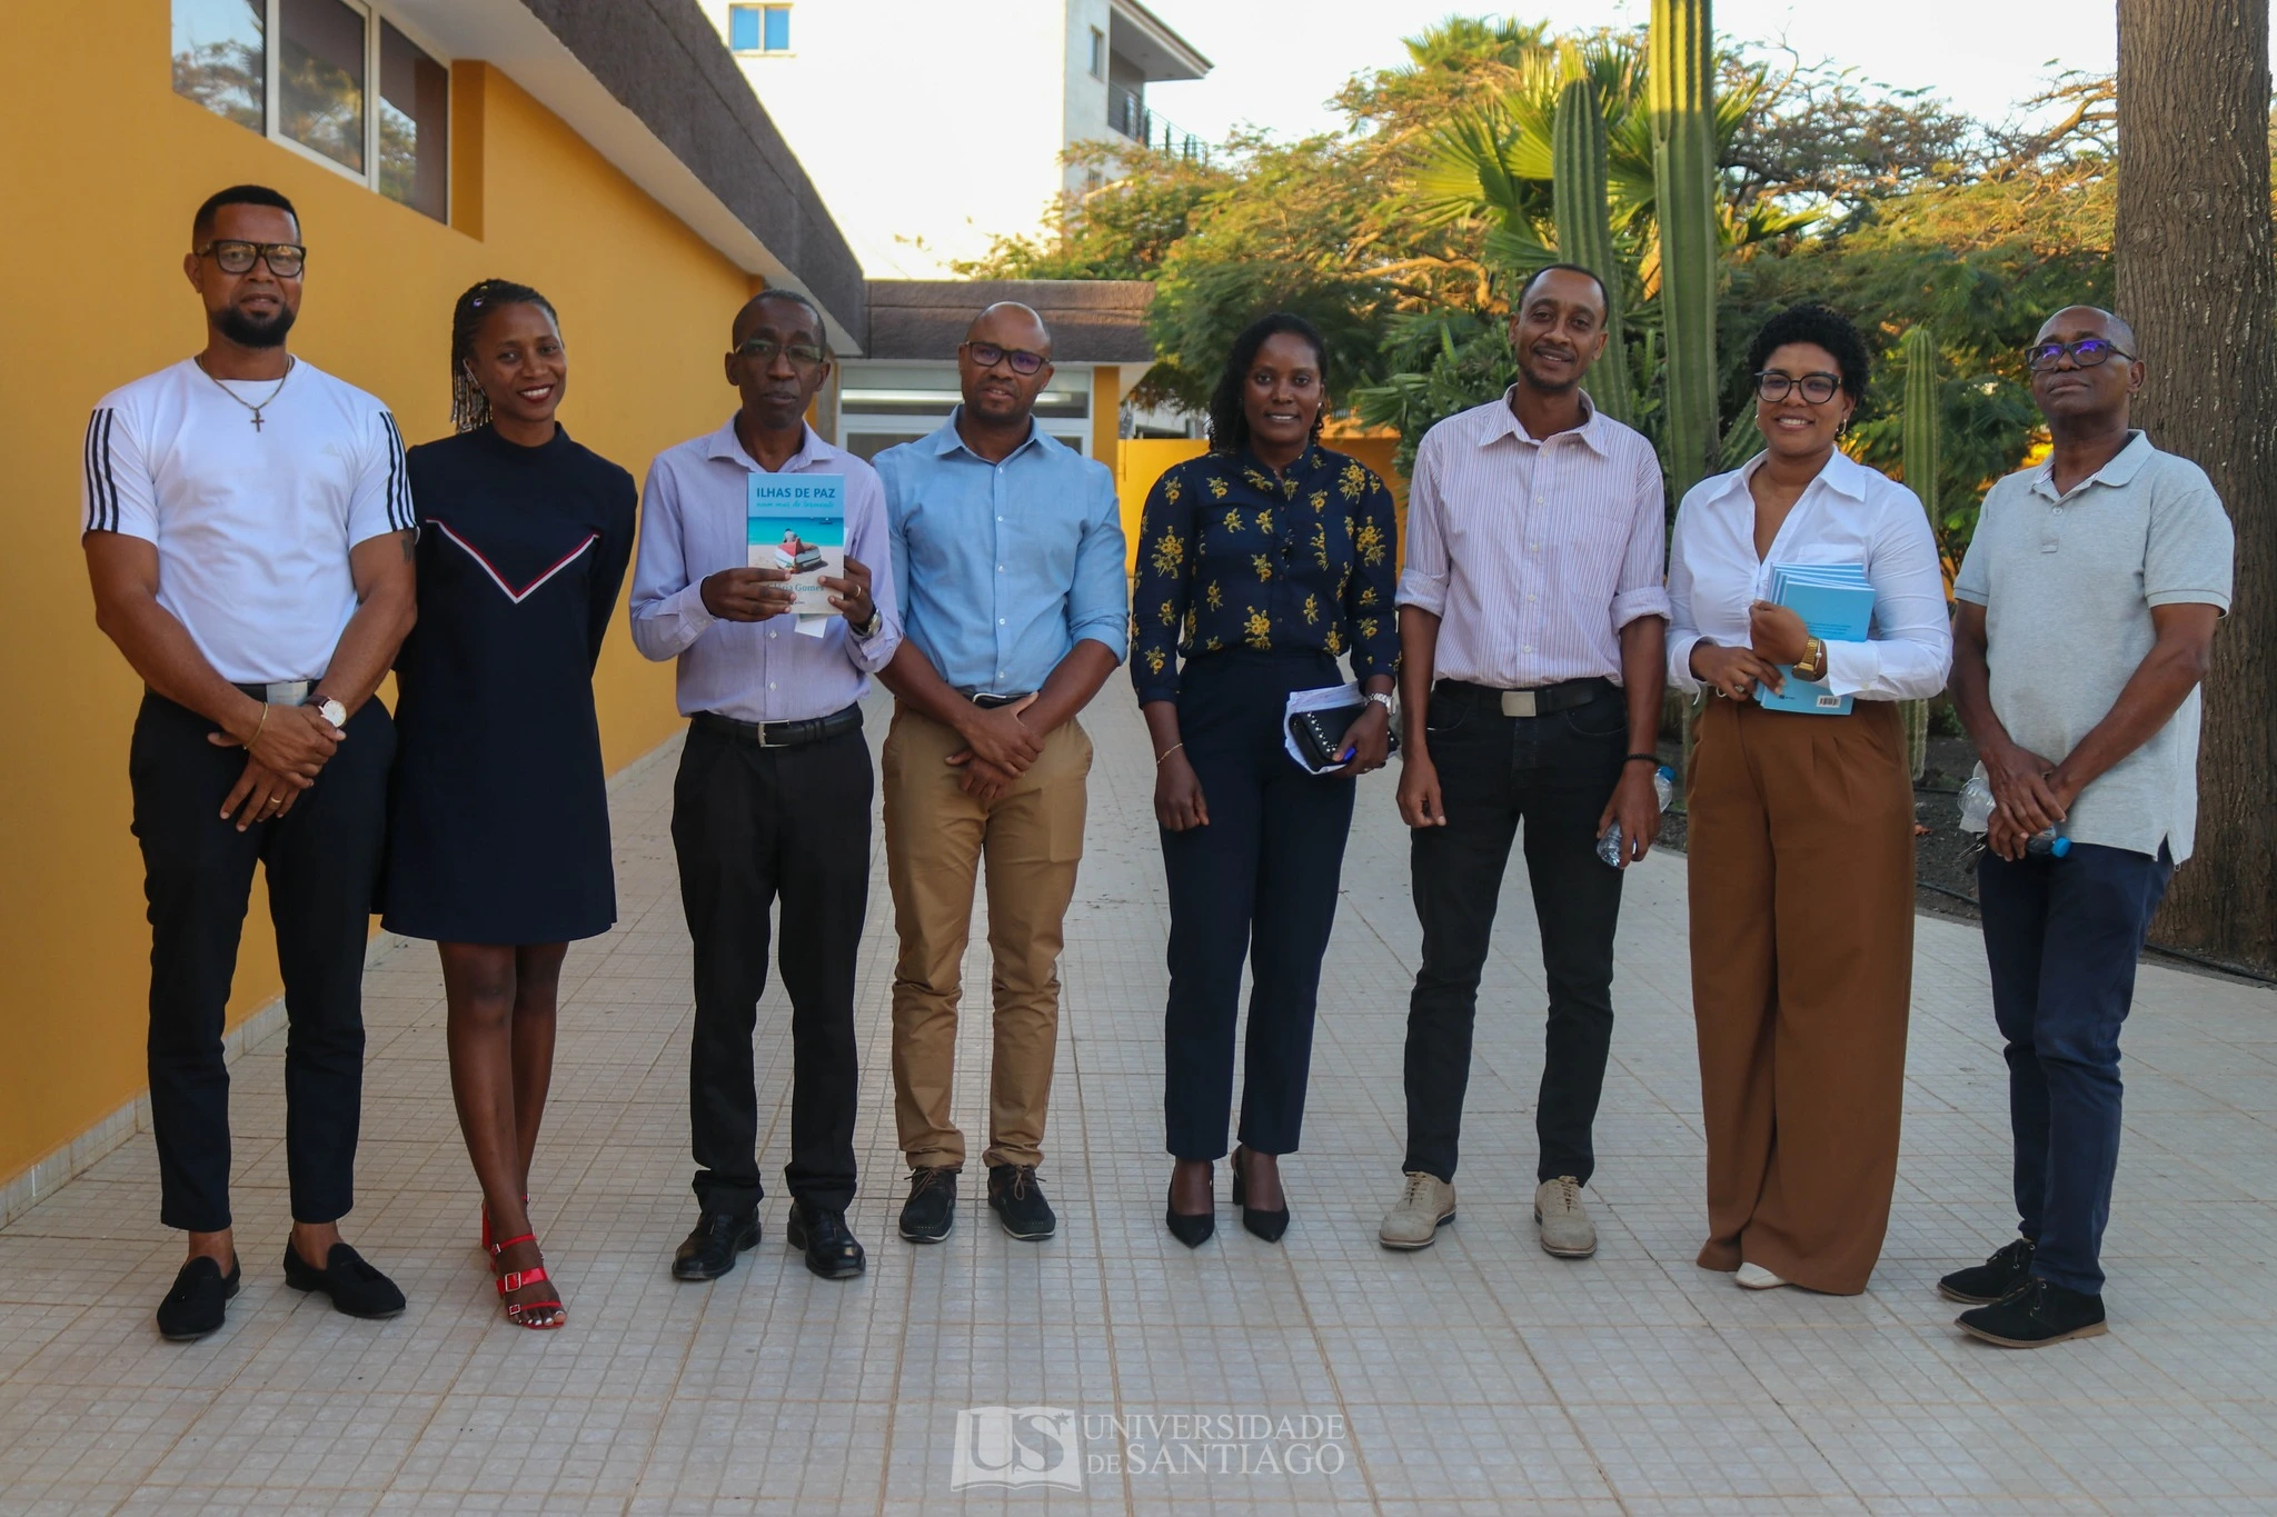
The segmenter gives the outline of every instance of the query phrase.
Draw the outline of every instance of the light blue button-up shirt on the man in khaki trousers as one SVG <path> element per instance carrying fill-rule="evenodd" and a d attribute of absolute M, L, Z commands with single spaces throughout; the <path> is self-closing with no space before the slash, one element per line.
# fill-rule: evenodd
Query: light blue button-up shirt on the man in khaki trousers
<path fill-rule="evenodd" d="M 1123 507 L 1104 464 L 1034 423 L 1025 444 L 990 464 L 965 448 L 950 414 L 931 437 L 879 453 L 877 473 L 902 635 L 943 680 L 1027 694 L 1086 637 L 1123 657 Z"/>

